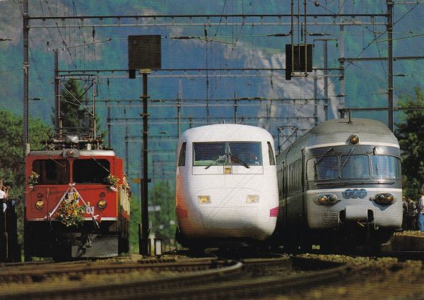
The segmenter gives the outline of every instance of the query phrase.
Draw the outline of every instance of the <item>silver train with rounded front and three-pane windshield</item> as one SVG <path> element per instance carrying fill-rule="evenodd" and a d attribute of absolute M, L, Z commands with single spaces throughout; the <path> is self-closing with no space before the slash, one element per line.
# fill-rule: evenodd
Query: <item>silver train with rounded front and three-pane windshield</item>
<path fill-rule="evenodd" d="M 325 121 L 276 160 L 282 244 L 379 246 L 401 227 L 399 143 L 381 122 Z"/>

